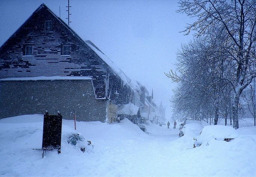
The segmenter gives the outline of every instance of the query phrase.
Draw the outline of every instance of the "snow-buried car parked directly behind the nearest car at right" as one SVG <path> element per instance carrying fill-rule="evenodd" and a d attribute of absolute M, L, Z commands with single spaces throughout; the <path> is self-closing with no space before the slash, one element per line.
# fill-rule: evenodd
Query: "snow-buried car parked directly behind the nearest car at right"
<path fill-rule="evenodd" d="M 202 130 L 202 123 L 200 120 L 185 119 L 184 122 L 180 125 L 179 137 L 182 137 L 186 132 L 190 130 L 195 131 L 196 129 L 200 129 L 200 131 Z"/>

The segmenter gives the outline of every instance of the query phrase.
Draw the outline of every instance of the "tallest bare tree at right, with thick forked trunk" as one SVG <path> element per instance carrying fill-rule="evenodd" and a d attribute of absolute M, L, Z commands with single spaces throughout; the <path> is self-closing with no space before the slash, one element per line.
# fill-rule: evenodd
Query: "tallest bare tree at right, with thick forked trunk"
<path fill-rule="evenodd" d="M 222 41 L 214 47 L 224 52 L 220 52 L 219 57 L 225 55 L 226 62 L 232 65 L 229 73 L 233 75 L 232 79 L 220 75 L 215 77 L 226 80 L 232 86 L 233 126 L 237 129 L 239 97 L 256 77 L 256 1 L 183 0 L 179 2 L 179 7 L 178 12 L 197 18 L 184 32 L 188 34 L 194 30 L 197 37 L 209 40 L 214 36 Z"/>

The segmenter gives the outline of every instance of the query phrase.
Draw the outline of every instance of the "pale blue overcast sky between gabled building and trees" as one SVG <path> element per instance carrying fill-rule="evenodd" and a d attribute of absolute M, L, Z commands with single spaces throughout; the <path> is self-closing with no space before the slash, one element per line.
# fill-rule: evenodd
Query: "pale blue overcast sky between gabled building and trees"
<path fill-rule="evenodd" d="M 174 69 L 181 43 L 191 40 L 179 33 L 191 19 L 176 13 L 176 0 L 69 0 L 70 27 L 84 40 L 91 40 L 130 79 L 154 91 L 157 104 L 170 103 L 175 83 L 164 72 Z M 67 22 L 68 0 L 0 0 L 0 46 L 45 3 Z M 60 13 L 59 13 L 60 6 Z"/>

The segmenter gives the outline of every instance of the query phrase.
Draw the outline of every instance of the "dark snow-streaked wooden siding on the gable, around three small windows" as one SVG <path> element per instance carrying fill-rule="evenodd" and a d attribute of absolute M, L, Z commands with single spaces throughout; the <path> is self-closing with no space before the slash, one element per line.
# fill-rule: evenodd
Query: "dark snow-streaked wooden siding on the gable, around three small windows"
<path fill-rule="evenodd" d="M 44 30 L 45 20 L 51 20 L 51 31 Z M 24 55 L 28 44 L 32 55 Z M 62 45 L 70 46 L 70 55 L 61 55 Z M 0 48 L 0 78 L 89 76 L 95 98 L 105 99 L 107 72 L 98 55 L 44 4 Z"/>

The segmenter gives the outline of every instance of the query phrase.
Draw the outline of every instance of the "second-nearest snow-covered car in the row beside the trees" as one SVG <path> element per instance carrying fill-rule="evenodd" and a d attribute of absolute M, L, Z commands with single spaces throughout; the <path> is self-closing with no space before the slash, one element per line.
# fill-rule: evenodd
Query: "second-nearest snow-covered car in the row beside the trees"
<path fill-rule="evenodd" d="M 181 131 L 179 131 L 179 137 L 182 137 L 184 134 L 190 134 L 193 136 L 198 135 L 203 129 L 201 122 L 199 122 L 187 123 L 186 125 L 184 125 Z"/>

